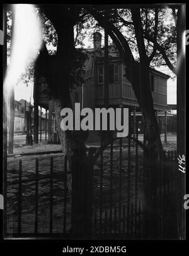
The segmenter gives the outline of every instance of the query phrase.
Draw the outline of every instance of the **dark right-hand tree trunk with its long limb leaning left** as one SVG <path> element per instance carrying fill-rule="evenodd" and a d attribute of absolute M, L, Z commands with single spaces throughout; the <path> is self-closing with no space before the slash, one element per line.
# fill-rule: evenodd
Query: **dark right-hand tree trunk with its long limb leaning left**
<path fill-rule="evenodd" d="M 151 85 L 149 82 L 149 63 L 147 61 L 146 49 L 144 47 L 144 42 L 142 44 L 141 31 L 138 31 L 141 27 L 141 24 L 139 24 L 139 22 L 141 22 L 139 10 L 137 10 L 137 15 L 135 15 L 134 12 L 133 13 L 135 18 L 135 34 L 137 36 L 137 44 L 139 47 L 140 63 L 135 61 L 127 40 L 118 30 L 118 28 L 112 25 L 112 23 L 108 22 L 105 17 L 97 13 L 90 6 L 85 8 L 88 9 L 91 15 L 95 17 L 98 23 L 100 23 L 101 27 L 106 28 L 108 35 L 110 35 L 113 42 L 117 46 L 118 51 L 120 52 L 120 56 L 122 56 L 123 62 L 126 66 L 125 75 L 129 79 L 130 83 L 132 83 L 132 88 L 134 89 L 134 93 L 139 103 L 142 117 L 146 126 L 146 140 L 148 142 L 146 147 L 146 155 L 148 155 L 147 158 L 157 158 L 157 154 L 161 154 L 163 147 L 159 135 L 159 125 L 154 113 Z"/>

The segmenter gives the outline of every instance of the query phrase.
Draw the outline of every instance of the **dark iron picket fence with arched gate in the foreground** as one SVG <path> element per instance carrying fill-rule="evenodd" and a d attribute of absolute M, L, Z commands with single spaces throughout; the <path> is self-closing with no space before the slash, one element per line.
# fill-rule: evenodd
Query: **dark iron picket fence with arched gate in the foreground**
<path fill-rule="evenodd" d="M 136 135 L 138 137 L 138 135 Z M 145 202 L 144 185 L 144 152 L 136 140 L 130 137 L 110 143 L 101 150 L 101 155 L 93 168 L 93 218 L 91 238 L 145 238 Z M 176 152 L 163 152 L 157 161 L 156 186 L 153 185 L 156 195 L 157 237 L 168 237 L 173 231 L 173 223 L 178 225 L 178 181 L 176 171 Z M 40 173 L 39 160 L 35 159 L 35 173 L 25 178 L 22 160 L 19 161 L 18 178 L 8 180 L 7 188 L 14 188 L 18 198 L 18 207 L 14 212 L 7 212 L 8 223 L 5 231 L 6 237 L 49 237 L 71 238 L 71 198 L 67 191 L 67 157 L 64 156 L 64 169 L 57 178 L 54 171 L 54 157 L 50 157 L 50 171 Z M 59 188 L 60 198 L 54 199 L 55 184 L 61 181 Z M 45 181 L 48 189 L 44 192 L 46 201 L 40 204 L 40 182 Z M 33 188 L 33 210 L 30 214 L 26 205 L 26 188 Z M 173 200 L 174 199 L 174 200 Z M 9 195 L 7 195 L 7 202 Z M 11 201 L 9 202 L 9 206 Z M 56 205 L 60 210 L 57 221 Z M 45 205 L 46 219 L 40 217 L 40 207 Z M 169 207 L 168 207 L 169 205 Z M 7 205 L 7 209 L 9 209 Z M 47 213 L 48 212 L 48 213 Z M 175 214 L 173 214 L 175 212 Z M 27 215 L 28 214 L 28 215 Z M 171 219 L 171 216 L 173 217 Z M 176 218 L 176 219 L 175 219 Z M 169 220 L 169 221 L 168 221 Z M 27 221 L 30 228 L 27 228 Z M 13 227 L 9 223 L 14 224 Z M 33 223 L 33 224 L 32 224 Z M 43 226 L 45 228 L 43 229 Z M 58 228 L 55 228 L 58 227 Z M 175 226 L 175 225 L 174 225 Z M 48 230 L 47 230 L 48 228 Z M 45 231 L 44 231 L 45 230 Z M 178 229 L 175 227 L 174 232 Z M 178 234 L 176 233 L 175 236 Z"/>

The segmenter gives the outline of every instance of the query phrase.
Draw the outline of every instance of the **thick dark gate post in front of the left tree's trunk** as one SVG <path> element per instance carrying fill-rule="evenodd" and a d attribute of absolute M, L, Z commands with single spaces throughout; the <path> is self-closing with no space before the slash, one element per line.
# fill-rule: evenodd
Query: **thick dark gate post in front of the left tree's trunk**
<path fill-rule="evenodd" d="M 85 133 L 85 131 L 78 132 L 76 143 L 72 145 L 71 234 L 75 238 L 91 238 L 92 234 L 93 163 L 91 156 L 86 155 Z"/>

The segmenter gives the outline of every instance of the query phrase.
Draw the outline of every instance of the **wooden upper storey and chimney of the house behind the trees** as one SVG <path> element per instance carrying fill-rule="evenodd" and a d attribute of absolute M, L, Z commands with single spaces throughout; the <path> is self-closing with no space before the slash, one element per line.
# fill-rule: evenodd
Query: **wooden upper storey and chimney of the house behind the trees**
<path fill-rule="evenodd" d="M 132 85 L 125 77 L 125 64 L 114 45 L 108 47 L 109 59 L 109 105 L 139 107 Z M 94 48 L 86 49 L 86 74 L 83 85 L 83 107 L 104 105 L 104 48 L 101 47 L 101 34 L 94 35 Z M 156 111 L 167 111 L 168 75 L 151 69 L 152 97 Z"/>

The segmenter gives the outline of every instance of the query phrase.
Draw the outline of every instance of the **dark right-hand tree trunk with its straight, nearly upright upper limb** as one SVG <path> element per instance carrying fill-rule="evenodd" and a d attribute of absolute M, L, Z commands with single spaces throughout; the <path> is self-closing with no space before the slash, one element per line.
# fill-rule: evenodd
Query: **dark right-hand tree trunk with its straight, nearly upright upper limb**
<path fill-rule="evenodd" d="M 135 63 L 135 67 L 132 68 L 131 80 L 132 85 L 135 88 L 136 97 L 139 101 L 142 116 L 146 123 L 146 140 L 148 142 L 146 147 L 146 154 L 148 155 L 149 159 L 152 159 L 154 161 L 156 159 L 157 153 L 159 153 L 159 155 L 161 154 L 162 144 L 159 134 L 159 125 L 154 111 L 151 84 L 149 81 L 150 61 L 147 57 L 146 47 L 144 44 L 142 23 L 140 18 L 140 8 L 136 6 L 132 7 L 131 13 L 140 56 L 139 65 Z M 136 76 L 136 74 L 139 75 Z M 138 79 L 136 79 L 136 77 L 138 77 Z"/>

